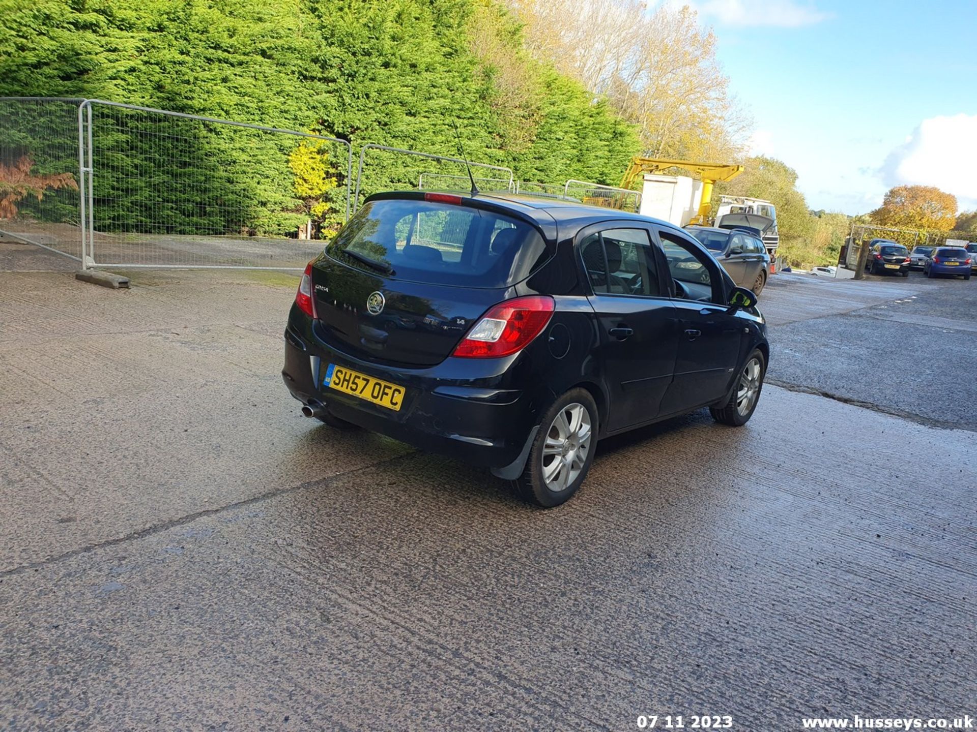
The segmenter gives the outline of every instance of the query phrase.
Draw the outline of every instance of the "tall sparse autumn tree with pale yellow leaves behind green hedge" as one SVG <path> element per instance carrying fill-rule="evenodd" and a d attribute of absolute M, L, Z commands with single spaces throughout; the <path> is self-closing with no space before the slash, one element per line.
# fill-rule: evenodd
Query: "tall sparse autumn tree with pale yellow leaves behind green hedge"
<path fill-rule="evenodd" d="M 643 0 L 509 0 L 527 48 L 638 125 L 645 154 L 727 162 L 749 122 L 716 60 L 716 38 L 689 7 Z"/>

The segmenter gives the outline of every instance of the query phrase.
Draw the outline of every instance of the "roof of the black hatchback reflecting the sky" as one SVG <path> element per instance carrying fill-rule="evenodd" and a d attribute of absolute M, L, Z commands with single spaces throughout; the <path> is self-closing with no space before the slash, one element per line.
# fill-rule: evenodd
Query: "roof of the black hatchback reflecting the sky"
<path fill-rule="evenodd" d="M 552 225 L 554 222 L 561 228 L 583 228 L 589 224 L 599 224 L 606 221 L 633 221 L 640 224 L 655 224 L 673 231 L 682 231 L 675 224 L 641 216 L 628 211 L 618 211 L 604 206 L 590 206 L 579 201 L 566 198 L 551 198 L 548 196 L 534 196 L 526 193 L 506 193 L 504 191 L 480 191 L 476 195 L 457 190 L 397 190 L 374 193 L 366 201 L 385 198 L 414 198 L 423 199 L 425 193 L 447 193 L 459 196 L 462 200 L 483 201 L 492 207 L 509 210 L 519 216 L 535 221 L 542 226 Z M 365 201 L 364 201 L 365 203 Z M 561 237 L 564 234 L 561 233 Z M 685 234 L 688 236 L 688 234 Z"/>

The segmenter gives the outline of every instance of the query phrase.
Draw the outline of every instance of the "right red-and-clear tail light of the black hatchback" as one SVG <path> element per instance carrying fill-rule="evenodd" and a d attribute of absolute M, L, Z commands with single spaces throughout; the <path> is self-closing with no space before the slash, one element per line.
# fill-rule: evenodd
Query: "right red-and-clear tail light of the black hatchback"
<path fill-rule="evenodd" d="M 454 349 L 460 358 L 498 358 L 529 346 L 553 316 L 553 298 L 531 295 L 493 305 Z"/>

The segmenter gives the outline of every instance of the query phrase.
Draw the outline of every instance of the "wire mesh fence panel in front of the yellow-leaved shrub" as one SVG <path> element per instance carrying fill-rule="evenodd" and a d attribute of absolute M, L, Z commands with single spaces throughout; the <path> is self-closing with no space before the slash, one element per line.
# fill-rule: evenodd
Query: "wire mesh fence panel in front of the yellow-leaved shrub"
<path fill-rule="evenodd" d="M 349 142 L 95 100 L 78 124 L 93 265 L 297 268 L 348 218 Z"/>

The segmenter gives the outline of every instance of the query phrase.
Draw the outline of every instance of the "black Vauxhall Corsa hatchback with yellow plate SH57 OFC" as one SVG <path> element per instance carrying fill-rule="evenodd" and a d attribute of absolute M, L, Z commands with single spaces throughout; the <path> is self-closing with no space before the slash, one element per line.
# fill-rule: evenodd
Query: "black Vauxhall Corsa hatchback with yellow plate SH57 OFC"
<path fill-rule="evenodd" d="M 600 438 L 702 407 L 743 425 L 769 359 L 755 303 L 670 224 L 380 193 L 306 268 L 282 376 L 307 417 L 489 468 L 551 507 Z"/>

